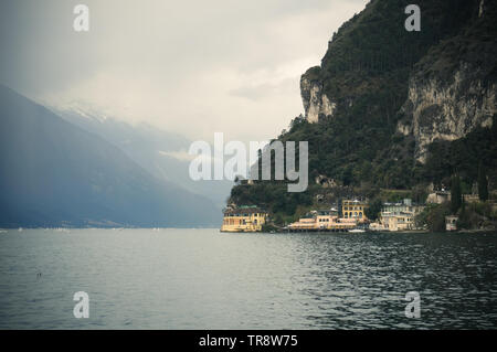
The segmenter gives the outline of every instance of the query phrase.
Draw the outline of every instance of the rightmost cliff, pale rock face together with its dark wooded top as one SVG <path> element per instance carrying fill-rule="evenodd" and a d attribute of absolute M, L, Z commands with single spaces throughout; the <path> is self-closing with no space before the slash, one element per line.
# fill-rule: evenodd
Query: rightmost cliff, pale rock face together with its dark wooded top
<path fill-rule="evenodd" d="M 490 127 L 497 113 L 495 1 L 482 0 L 477 10 L 462 33 L 432 47 L 411 73 L 398 130 L 414 136 L 420 162 L 435 140 Z"/>

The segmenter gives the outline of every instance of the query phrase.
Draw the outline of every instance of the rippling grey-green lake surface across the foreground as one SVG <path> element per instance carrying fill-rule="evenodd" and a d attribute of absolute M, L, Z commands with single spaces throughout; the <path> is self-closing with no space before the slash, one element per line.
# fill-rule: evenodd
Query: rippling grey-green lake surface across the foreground
<path fill-rule="evenodd" d="M 0 328 L 495 329 L 497 234 L 0 231 Z"/>

